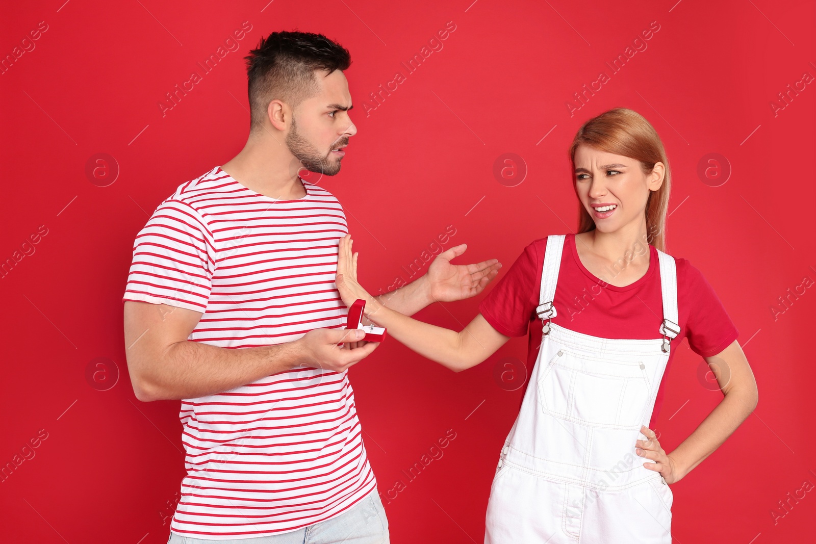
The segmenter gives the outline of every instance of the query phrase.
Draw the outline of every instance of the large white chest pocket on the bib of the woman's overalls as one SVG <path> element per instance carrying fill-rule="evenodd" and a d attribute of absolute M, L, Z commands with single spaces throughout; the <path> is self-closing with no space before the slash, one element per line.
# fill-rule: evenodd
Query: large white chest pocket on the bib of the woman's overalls
<path fill-rule="evenodd" d="M 595 427 L 640 429 L 650 383 L 637 359 L 559 349 L 539 378 L 543 412 Z"/>

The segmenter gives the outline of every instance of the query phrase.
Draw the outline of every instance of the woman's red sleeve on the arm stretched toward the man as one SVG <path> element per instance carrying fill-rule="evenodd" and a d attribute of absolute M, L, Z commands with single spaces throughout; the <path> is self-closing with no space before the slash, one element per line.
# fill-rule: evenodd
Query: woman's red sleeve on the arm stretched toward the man
<path fill-rule="evenodd" d="M 544 239 L 546 240 L 546 238 Z M 479 303 L 479 312 L 490 325 L 505 336 L 524 336 L 530 317 L 539 303 L 543 254 L 539 244 L 524 248 L 493 290 Z"/>

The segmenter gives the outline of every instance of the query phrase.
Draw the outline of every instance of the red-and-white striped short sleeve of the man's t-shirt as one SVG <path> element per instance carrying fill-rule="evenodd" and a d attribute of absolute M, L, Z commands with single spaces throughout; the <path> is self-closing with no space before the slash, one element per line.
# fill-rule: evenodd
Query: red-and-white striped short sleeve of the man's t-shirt
<path fill-rule="evenodd" d="M 215 268 L 211 242 L 211 233 L 192 206 L 177 200 L 162 202 L 135 238 L 122 301 L 203 313 Z"/>

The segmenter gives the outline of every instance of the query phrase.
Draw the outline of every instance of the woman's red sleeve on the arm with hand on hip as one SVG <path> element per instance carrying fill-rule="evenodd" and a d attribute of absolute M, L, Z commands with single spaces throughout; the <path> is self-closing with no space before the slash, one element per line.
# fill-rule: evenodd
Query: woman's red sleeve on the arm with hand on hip
<path fill-rule="evenodd" d="M 685 299 L 689 304 L 686 338 L 694 353 L 703 357 L 714 356 L 733 343 L 739 337 L 739 331 L 703 273 L 682 260 L 685 261 L 688 290 Z"/>

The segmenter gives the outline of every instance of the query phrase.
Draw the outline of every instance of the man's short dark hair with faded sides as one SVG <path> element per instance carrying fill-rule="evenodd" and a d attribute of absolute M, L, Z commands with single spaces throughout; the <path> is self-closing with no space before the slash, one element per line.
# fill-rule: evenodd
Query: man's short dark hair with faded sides
<path fill-rule="evenodd" d="M 266 108 L 272 100 L 282 100 L 295 109 L 303 100 L 319 91 L 315 70 L 348 69 L 351 55 L 344 46 L 322 34 L 309 32 L 273 32 L 262 38 L 246 59 L 249 83 L 250 130 L 264 123 Z"/>

